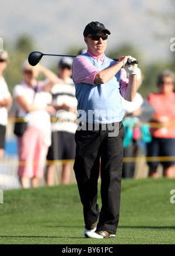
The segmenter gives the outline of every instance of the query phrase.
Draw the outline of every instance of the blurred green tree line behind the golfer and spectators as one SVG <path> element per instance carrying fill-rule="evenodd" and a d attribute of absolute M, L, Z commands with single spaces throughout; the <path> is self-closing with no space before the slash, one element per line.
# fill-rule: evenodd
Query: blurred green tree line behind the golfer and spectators
<path fill-rule="evenodd" d="M 3 76 L 6 79 L 10 92 L 12 93 L 13 87 L 22 81 L 21 67 L 23 61 L 27 59 L 31 51 L 36 49 L 36 44 L 32 41 L 29 35 L 23 34 L 16 39 L 13 47 L 10 47 L 8 42 L 5 41 L 3 48 L 9 53 L 9 63 Z M 79 50 L 78 46 L 74 46 L 65 54 L 78 55 Z M 175 71 L 174 52 L 170 53 L 171 57 L 167 56 L 167 60 L 163 60 L 162 62 L 155 61 L 155 63 L 146 63 L 146 61 L 143 60 L 142 54 L 139 53 L 131 44 L 122 45 L 118 47 L 117 50 L 112 49 L 106 55 L 111 58 L 114 56 L 131 55 L 139 61 L 139 68 L 141 68 L 143 74 L 143 84 L 141 88 L 139 88 L 139 92 L 142 94 L 143 98 L 145 98 L 149 92 L 156 91 L 156 78 L 159 72 L 164 69 Z M 49 68 L 56 72 L 55 66 L 50 66 Z"/>

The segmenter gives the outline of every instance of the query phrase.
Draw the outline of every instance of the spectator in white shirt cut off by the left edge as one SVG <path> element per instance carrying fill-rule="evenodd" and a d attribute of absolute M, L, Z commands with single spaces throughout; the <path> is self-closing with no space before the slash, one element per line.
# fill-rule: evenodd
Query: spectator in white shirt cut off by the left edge
<path fill-rule="evenodd" d="M 3 78 L 3 71 L 8 63 L 8 52 L 0 51 L 0 160 L 3 157 L 5 148 L 6 125 L 8 124 L 8 110 L 12 105 L 12 96 L 10 95 L 8 85 Z"/>

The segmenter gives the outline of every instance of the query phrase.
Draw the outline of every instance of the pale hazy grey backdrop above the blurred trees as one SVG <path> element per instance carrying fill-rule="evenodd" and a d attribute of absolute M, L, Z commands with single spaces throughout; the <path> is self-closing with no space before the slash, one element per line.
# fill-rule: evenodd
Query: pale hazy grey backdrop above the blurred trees
<path fill-rule="evenodd" d="M 171 54 L 174 28 L 148 11 L 161 14 L 171 8 L 171 0 L 2 0 L 0 37 L 13 43 L 26 33 L 36 42 L 36 50 L 67 54 L 74 46 L 85 46 L 85 26 L 99 21 L 111 31 L 108 50 L 129 43 L 145 61 L 163 60 Z M 164 39 L 155 38 L 155 33 Z"/>

